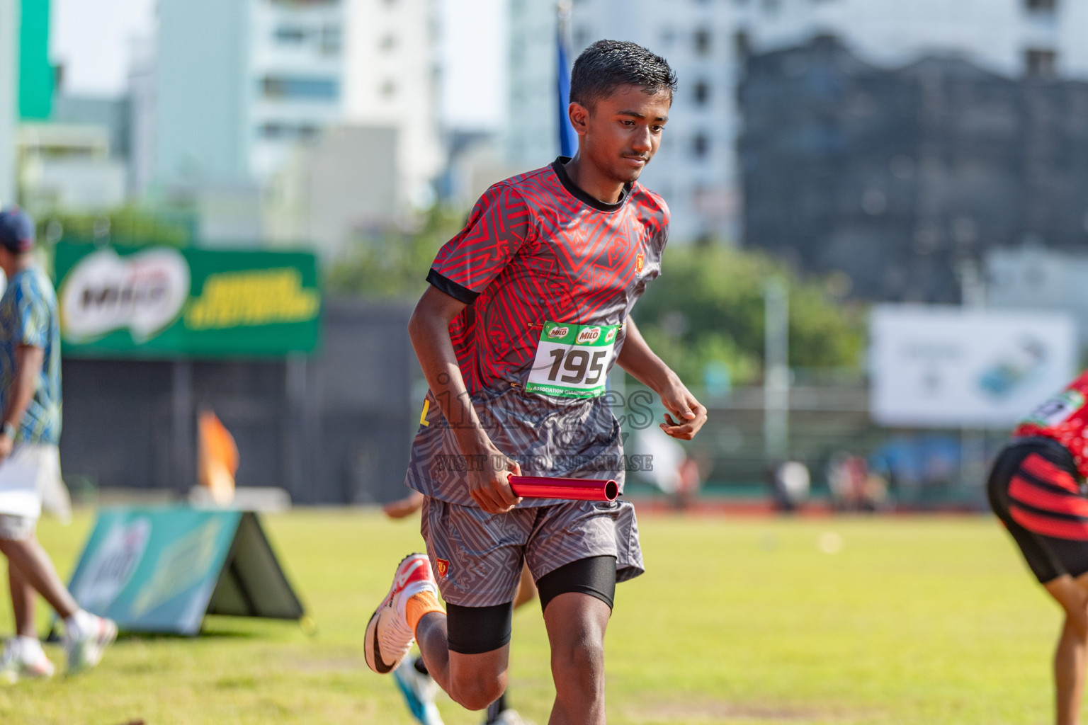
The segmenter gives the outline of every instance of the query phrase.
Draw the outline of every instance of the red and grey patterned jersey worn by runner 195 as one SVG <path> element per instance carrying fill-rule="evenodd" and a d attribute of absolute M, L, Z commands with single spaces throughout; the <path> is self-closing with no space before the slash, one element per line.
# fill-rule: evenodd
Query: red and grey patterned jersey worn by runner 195
<path fill-rule="evenodd" d="M 518 458 L 526 473 L 622 482 L 619 425 L 601 398 L 537 395 L 526 390 L 526 382 L 546 323 L 562 325 L 556 332 L 568 325 L 619 326 L 609 333 L 611 367 L 623 343 L 622 323 L 646 283 L 660 273 L 669 211 L 638 183 L 615 204 L 594 199 L 567 175 L 566 161 L 491 187 L 465 228 L 438 251 L 428 280 L 467 305 L 452 321 L 449 335 L 468 391 L 499 450 Z M 574 428 L 581 433 L 571 438 Z M 444 470 L 458 465 L 452 461 L 459 453 L 429 393 L 408 485 L 475 505 L 463 472 Z"/>

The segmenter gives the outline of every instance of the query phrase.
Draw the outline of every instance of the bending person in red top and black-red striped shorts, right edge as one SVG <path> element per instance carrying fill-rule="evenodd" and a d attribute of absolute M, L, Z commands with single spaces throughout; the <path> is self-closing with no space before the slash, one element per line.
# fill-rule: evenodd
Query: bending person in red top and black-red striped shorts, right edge
<path fill-rule="evenodd" d="M 990 507 L 1065 611 L 1054 652 L 1058 725 L 1079 722 L 1088 660 L 1088 372 L 1013 432 L 987 486 Z"/>

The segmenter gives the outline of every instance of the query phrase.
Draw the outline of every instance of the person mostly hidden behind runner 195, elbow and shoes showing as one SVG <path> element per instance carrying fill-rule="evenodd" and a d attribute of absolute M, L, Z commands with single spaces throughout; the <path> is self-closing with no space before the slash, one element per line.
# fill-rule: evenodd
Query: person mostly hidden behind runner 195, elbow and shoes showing
<path fill-rule="evenodd" d="M 407 518 L 423 508 L 424 499 L 425 497 L 419 491 L 412 491 L 403 499 L 386 503 L 382 507 L 382 511 L 390 518 Z M 535 598 L 536 585 L 533 584 L 532 573 L 528 566 L 523 566 L 518 593 L 514 597 L 514 609 L 528 604 Z M 438 684 L 426 671 L 423 658 L 405 659 L 400 666 L 393 671 L 393 677 L 397 680 L 397 687 L 404 695 L 412 717 L 421 725 L 443 725 L 438 709 L 434 705 Z M 516 710 L 507 705 L 506 696 L 507 693 L 503 692 L 497 700 L 487 705 L 483 725 L 530 725 L 529 721 L 523 720 Z"/>

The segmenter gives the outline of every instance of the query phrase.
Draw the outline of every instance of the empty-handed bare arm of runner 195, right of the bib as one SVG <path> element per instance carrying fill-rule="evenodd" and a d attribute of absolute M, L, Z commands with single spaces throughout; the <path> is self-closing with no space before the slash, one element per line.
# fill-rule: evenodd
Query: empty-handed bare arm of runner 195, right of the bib
<path fill-rule="evenodd" d="M 706 423 L 706 408 L 695 400 L 695 396 L 684 386 L 672 370 L 658 358 L 639 327 L 630 317 L 623 323 L 623 347 L 616 359 L 620 367 L 630 373 L 647 388 L 662 397 L 662 404 L 669 413 L 665 414 L 662 430 L 683 440 L 691 440 Z"/>

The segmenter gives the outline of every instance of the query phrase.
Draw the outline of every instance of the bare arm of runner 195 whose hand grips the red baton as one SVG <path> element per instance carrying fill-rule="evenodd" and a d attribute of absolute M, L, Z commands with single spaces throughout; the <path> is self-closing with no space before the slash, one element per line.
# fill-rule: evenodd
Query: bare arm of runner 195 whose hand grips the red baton
<path fill-rule="evenodd" d="M 511 473 L 520 475 L 521 467 L 495 447 L 470 402 L 465 378 L 457 365 L 454 343 L 449 339 L 449 323 L 463 309 L 465 303 L 460 300 L 435 287 L 428 287 L 411 314 L 408 335 L 426 384 L 442 413 L 450 422 L 461 454 L 485 457 L 482 459 L 485 462 L 482 471 L 468 466 L 469 493 L 487 513 L 505 513 L 521 502 L 507 483 L 507 476 Z M 495 471 L 494 461 L 505 461 L 505 470 Z"/>

